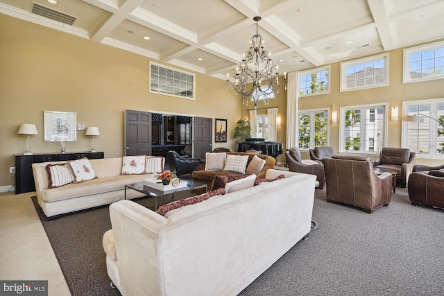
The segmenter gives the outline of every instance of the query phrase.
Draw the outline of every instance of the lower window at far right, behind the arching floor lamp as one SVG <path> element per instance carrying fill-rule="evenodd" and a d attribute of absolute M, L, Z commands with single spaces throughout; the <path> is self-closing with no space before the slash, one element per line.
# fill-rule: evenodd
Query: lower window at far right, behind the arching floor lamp
<path fill-rule="evenodd" d="M 403 122 L 402 146 L 418 153 L 418 155 L 443 157 L 444 98 L 404 102 L 402 110 L 404 110 L 404 115 L 420 114 L 424 116 L 423 122 Z"/>

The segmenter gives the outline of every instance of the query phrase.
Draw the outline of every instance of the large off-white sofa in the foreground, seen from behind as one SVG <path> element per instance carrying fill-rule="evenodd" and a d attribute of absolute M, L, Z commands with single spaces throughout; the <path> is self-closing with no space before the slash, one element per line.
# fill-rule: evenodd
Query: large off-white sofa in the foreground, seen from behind
<path fill-rule="evenodd" d="M 167 218 L 110 205 L 108 275 L 122 295 L 237 295 L 310 232 L 315 175 L 286 177 L 182 207 Z"/>

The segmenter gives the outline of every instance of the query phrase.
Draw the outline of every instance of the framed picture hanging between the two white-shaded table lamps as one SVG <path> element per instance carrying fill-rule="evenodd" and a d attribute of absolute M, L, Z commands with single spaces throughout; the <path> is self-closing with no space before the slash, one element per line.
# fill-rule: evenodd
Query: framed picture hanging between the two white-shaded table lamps
<path fill-rule="evenodd" d="M 77 113 L 44 110 L 44 141 L 77 141 Z"/>

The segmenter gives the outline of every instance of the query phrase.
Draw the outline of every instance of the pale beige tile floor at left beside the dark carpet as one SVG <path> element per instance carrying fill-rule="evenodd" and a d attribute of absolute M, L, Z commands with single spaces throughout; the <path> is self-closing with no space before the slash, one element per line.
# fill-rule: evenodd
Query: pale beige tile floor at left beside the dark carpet
<path fill-rule="evenodd" d="M 0 279 L 48 280 L 49 296 L 70 296 L 33 195 L 0 193 Z"/>

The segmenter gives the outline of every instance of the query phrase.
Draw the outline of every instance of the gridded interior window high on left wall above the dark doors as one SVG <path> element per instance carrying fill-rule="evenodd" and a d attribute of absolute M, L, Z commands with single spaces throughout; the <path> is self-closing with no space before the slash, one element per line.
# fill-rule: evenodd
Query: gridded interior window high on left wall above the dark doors
<path fill-rule="evenodd" d="M 150 92 L 194 99 L 194 74 L 150 62 Z"/>

